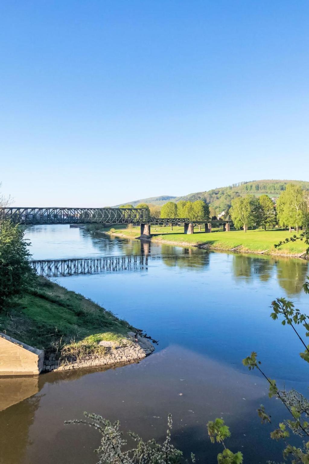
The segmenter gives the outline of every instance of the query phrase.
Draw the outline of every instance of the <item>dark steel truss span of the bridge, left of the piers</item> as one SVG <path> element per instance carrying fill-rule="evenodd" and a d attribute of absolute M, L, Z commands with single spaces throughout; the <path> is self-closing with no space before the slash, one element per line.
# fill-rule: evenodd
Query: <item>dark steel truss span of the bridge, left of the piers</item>
<path fill-rule="evenodd" d="M 16 224 L 145 224 L 146 208 L 0 208 L 0 218 Z"/>

